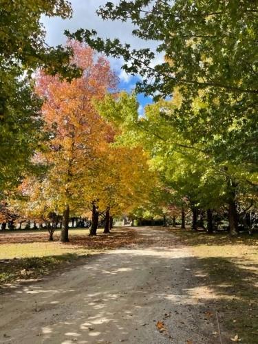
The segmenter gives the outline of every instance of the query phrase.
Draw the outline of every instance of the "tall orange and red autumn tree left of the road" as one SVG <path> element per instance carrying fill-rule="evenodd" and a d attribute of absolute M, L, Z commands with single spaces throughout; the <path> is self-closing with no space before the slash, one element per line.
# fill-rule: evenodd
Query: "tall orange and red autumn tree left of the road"
<path fill-rule="evenodd" d="M 96 176 L 114 134 L 98 115 L 93 100 L 116 87 L 116 76 L 106 58 L 76 41 L 68 44 L 74 52 L 72 63 L 83 69 L 83 76 L 68 83 L 41 72 L 36 87 L 45 100 L 42 114 L 49 133 L 47 148 L 39 158 L 50 166 L 47 181 L 55 207 L 63 213 L 61 241 L 68 241 L 69 213 L 95 200 Z"/>

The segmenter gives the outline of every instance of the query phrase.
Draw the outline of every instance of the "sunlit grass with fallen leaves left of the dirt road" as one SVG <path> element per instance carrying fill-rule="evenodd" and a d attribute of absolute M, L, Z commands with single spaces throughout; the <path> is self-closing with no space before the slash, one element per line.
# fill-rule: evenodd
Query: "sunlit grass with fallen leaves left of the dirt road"
<path fill-rule="evenodd" d="M 140 242 L 133 231 L 115 228 L 109 235 L 98 229 L 96 237 L 89 237 L 88 229 L 70 229 L 69 243 L 58 241 L 60 230 L 54 233 L 54 241 L 48 241 L 45 230 L 17 230 L 0 233 L 0 285 L 23 279 L 41 277 L 58 267 L 76 261 L 85 261 L 88 255 Z"/>

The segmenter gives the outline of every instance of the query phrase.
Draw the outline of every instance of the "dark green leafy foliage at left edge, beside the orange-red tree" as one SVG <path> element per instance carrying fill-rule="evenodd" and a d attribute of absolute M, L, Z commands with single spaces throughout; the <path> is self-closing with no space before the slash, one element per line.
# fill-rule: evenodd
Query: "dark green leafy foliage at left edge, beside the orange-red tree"
<path fill-rule="evenodd" d="M 23 172 L 31 171 L 30 158 L 40 140 L 41 101 L 34 94 L 33 73 L 78 76 L 69 63 L 68 47 L 45 43 L 41 16 L 69 18 L 68 1 L 0 1 L 0 197 L 19 184 Z"/>

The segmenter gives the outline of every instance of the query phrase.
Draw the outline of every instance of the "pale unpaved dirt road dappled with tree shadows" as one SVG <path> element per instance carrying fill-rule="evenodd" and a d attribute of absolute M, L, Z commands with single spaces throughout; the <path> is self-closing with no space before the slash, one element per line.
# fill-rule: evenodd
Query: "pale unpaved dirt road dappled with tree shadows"
<path fill-rule="evenodd" d="M 169 230 L 135 230 L 154 243 L 0 294 L 0 343 L 219 343 L 213 295 L 195 282 L 191 250 Z"/>

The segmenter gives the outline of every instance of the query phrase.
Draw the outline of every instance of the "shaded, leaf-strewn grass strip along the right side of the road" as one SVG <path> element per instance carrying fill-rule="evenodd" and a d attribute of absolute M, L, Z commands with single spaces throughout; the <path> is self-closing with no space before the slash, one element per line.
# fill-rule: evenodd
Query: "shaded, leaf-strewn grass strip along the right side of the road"
<path fill-rule="evenodd" d="M 235 333 L 240 343 L 258 343 L 257 233 L 232 238 L 227 233 L 171 231 L 191 248 L 195 257 L 193 273 L 215 294 L 211 303 L 219 314 L 222 331 Z"/>

